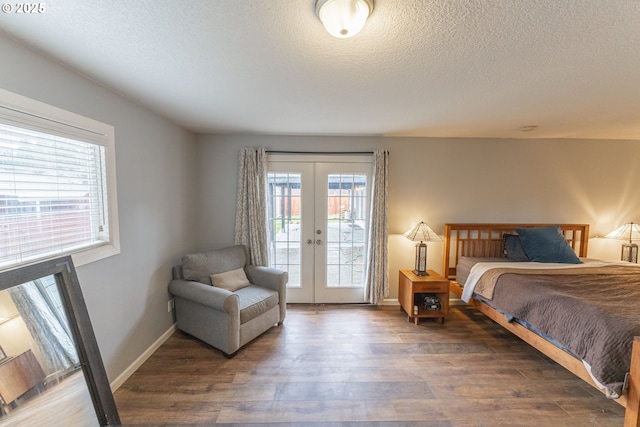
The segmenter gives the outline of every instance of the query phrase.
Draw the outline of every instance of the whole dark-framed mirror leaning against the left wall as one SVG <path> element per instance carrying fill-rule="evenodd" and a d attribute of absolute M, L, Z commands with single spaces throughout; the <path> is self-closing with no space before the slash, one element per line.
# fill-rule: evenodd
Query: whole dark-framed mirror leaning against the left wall
<path fill-rule="evenodd" d="M 0 426 L 118 424 L 71 257 L 0 272 Z"/>

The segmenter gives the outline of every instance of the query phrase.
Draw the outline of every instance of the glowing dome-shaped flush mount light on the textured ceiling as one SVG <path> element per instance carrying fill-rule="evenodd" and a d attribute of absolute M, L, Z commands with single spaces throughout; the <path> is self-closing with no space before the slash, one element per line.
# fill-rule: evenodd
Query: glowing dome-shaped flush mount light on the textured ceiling
<path fill-rule="evenodd" d="M 362 30 L 373 11 L 373 0 L 316 0 L 316 14 L 325 30 L 346 39 Z"/>

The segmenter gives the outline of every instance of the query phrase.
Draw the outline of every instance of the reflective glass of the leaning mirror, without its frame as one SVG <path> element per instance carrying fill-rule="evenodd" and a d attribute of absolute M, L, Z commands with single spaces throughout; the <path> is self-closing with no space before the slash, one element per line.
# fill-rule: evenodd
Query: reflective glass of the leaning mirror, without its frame
<path fill-rule="evenodd" d="M 0 322 L 0 426 L 99 425 L 54 276 L 1 291 Z"/>

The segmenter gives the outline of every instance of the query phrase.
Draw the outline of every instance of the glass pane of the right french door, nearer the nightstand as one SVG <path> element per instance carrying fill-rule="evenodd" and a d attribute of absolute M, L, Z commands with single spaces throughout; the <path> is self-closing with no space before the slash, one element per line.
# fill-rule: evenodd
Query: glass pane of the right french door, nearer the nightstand
<path fill-rule="evenodd" d="M 327 287 L 363 287 L 367 176 L 330 174 L 327 185 Z"/>

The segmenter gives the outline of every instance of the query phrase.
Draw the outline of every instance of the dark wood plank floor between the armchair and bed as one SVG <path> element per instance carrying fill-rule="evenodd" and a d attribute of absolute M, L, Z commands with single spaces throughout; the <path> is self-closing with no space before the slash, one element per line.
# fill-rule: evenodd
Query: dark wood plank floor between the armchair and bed
<path fill-rule="evenodd" d="M 292 305 L 227 360 L 175 333 L 115 393 L 135 424 L 621 426 L 624 408 L 492 321 Z"/>

